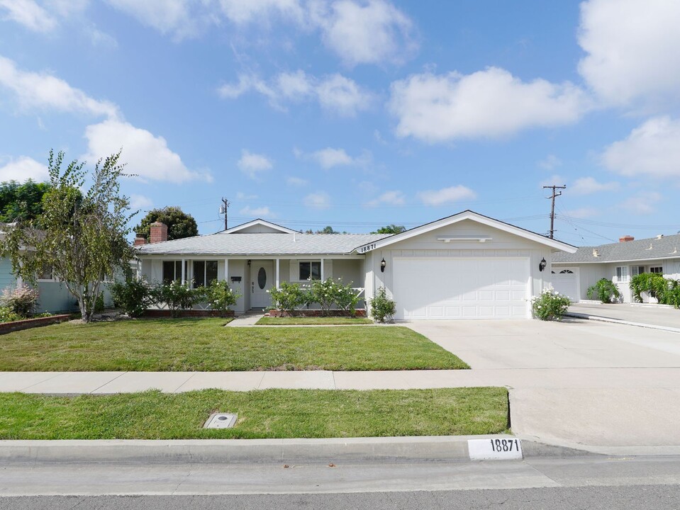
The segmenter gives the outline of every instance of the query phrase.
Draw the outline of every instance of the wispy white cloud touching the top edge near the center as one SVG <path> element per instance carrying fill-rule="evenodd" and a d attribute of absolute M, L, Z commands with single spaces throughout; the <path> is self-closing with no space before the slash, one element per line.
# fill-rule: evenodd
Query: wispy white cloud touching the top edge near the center
<path fill-rule="evenodd" d="M 388 1 L 323 1 L 311 6 L 323 42 L 347 65 L 401 64 L 418 48 L 411 19 Z"/>

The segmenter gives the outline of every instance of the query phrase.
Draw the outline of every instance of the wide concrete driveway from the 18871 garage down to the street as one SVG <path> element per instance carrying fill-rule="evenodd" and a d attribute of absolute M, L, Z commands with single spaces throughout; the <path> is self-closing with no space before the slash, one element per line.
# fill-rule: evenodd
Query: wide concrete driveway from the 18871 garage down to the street
<path fill-rule="evenodd" d="M 603 453 L 680 453 L 680 335 L 604 322 L 412 322 L 478 382 L 507 385 L 513 432 Z"/>

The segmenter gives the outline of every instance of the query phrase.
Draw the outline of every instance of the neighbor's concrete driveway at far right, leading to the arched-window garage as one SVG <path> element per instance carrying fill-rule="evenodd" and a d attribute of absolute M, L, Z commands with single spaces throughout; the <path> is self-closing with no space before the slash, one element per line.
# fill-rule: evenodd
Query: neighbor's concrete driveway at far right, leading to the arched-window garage
<path fill-rule="evenodd" d="M 569 307 L 569 312 L 680 329 L 680 310 L 665 306 L 641 306 L 629 303 L 600 305 L 578 302 Z"/>

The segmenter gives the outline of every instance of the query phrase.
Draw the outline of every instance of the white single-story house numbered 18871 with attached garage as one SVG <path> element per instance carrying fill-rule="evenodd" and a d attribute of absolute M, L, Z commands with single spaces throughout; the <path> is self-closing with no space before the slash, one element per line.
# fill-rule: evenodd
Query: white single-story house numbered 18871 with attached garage
<path fill-rule="evenodd" d="M 165 233 L 164 233 L 165 232 Z M 167 227 L 152 225 L 152 239 Z M 466 210 L 400 234 L 301 234 L 264 220 L 138 246 L 152 282 L 228 280 L 236 312 L 271 305 L 283 281 L 338 278 L 368 302 L 384 286 L 396 319 L 528 319 L 555 251 L 576 247 Z"/>

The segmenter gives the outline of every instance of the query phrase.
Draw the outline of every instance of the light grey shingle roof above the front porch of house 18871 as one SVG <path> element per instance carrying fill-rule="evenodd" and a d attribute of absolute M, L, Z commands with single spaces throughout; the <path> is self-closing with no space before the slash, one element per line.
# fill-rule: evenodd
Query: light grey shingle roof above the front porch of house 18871
<path fill-rule="evenodd" d="M 209 234 L 140 246 L 142 255 L 346 255 L 389 234 Z"/>

